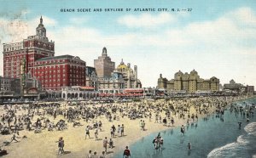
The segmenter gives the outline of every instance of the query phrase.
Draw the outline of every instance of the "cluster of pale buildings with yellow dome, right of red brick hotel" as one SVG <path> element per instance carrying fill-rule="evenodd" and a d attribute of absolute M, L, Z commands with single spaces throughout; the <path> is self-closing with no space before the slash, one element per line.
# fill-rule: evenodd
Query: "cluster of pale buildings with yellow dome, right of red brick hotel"
<path fill-rule="evenodd" d="M 95 87 L 100 93 L 124 93 L 125 88 L 141 88 L 137 78 L 137 65 L 134 70 L 123 60 L 114 68 L 114 62 L 108 57 L 107 48 L 103 48 L 102 56 L 94 60 L 95 70 L 87 67 L 86 85 Z"/>

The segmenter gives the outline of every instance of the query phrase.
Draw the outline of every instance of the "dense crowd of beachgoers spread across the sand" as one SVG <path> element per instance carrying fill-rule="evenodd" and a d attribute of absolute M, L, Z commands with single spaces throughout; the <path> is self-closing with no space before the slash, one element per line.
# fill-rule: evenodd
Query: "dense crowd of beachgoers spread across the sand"
<path fill-rule="evenodd" d="M 175 119 L 186 120 L 187 123 L 198 120 L 199 116 L 207 116 L 216 112 L 221 116 L 226 106 L 232 103 L 236 97 L 206 97 L 206 98 L 184 98 L 184 99 L 160 99 L 147 100 L 131 103 L 113 104 L 89 104 L 79 102 L 72 105 L 68 102 L 62 103 L 32 103 L 4 105 L 0 111 L 0 133 L 13 135 L 10 143 L 19 141 L 19 132 L 26 130 L 35 134 L 42 133 L 43 130 L 49 133 L 67 130 L 72 127 L 84 127 L 84 139 L 92 138 L 94 133 L 96 141 L 102 132 L 102 120 L 108 120 L 110 135 L 103 137 L 102 155 L 108 154 L 108 148 L 114 148 L 113 138 L 125 136 L 125 124 L 119 121 L 121 118 L 137 120 L 142 131 L 147 129 L 146 122 L 162 124 L 166 127 L 173 127 Z M 191 111 L 191 108 L 195 110 Z M 241 110 L 234 108 L 236 112 L 241 112 L 244 116 L 251 115 L 251 110 Z M 152 117 L 154 116 L 154 122 Z M 108 127 L 104 127 L 108 130 Z M 181 133 L 185 132 L 184 127 Z M 159 136 L 155 138 L 154 148 L 160 149 L 163 139 Z M 115 141 L 118 141 L 117 139 Z M 64 140 L 58 141 L 58 154 L 64 153 Z M 97 153 L 97 152 L 95 152 Z M 90 152 L 90 155 L 95 155 Z M 99 152 L 98 152 L 99 153 Z M 96 156 L 95 156 L 96 157 Z"/>

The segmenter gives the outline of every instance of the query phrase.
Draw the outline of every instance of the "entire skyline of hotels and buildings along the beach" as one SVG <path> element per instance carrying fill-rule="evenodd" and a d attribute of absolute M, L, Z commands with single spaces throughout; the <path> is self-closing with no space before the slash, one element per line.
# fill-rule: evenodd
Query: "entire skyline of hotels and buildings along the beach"
<path fill-rule="evenodd" d="M 46 37 L 42 16 L 35 36 L 29 36 L 22 42 L 3 44 L 3 57 L 1 93 L 3 90 L 11 93 L 20 91 L 23 96 L 39 93 L 42 89 L 49 93 L 58 92 L 54 93 L 54 98 L 61 96 L 63 99 L 124 96 L 124 93 L 126 96 L 144 95 L 143 84 L 137 77 L 137 65 L 132 69 L 130 63 L 125 65 L 121 59 L 115 67 L 105 47 L 102 48 L 102 55 L 94 59 L 95 67 L 86 66 L 86 62 L 78 56 L 55 56 L 55 42 L 49 42 Z M 10 82 L 18 85 L 15 78 L 20 78 L 20 90 L 10 85 Z M 234 87 L 236 84 L 231 81 L 229 85 Z M 178 71 L 169 81 L 160 74 L 156 88 L 165 89 L 169 94 L 214 93 L 219 91 L 219 79 L 215 76 L 202 79 L 195 70 L 190 73 Z M 247 89 L 253 92 L 253 87 Z"/>

